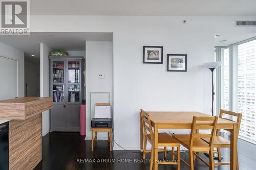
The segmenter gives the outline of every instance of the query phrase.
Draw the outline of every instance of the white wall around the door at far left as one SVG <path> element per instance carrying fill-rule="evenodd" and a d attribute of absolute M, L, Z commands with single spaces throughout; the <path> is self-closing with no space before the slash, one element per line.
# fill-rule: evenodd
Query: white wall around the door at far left
<path fill-rule="evenodd" d="M 0 56 L 16 60 L 18 63 L 18 98 L 24 97 L 24 52 L 17 50 L 16 48 L 0 42 Z M 1 72 L 5 72 L 0 68 Z M 1 80 L 1 83 L 8 80 Z M 0 89 L 6 90 L 6 89 Z"/>

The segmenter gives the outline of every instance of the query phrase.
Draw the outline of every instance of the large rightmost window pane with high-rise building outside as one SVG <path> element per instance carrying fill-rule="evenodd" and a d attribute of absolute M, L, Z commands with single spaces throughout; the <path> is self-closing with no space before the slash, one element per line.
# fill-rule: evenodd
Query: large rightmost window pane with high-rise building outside
<path fill-rule="evenodd" d="M 256 40 L 238 45 L 237 111 L 243 113 L 239 135 L 256 141 L 255 71 Z"/>

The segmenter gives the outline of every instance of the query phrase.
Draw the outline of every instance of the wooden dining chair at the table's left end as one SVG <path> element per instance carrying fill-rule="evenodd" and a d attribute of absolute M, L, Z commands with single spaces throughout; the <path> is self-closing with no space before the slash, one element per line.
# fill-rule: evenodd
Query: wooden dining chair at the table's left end
<path fill-rule="evenodd" d="M 153 128 L 151 124 L 150 114 L 146 113 L 142 109 L 140 110 L 141 120 L 144 129 L 144 148 L 143 148 L 143 159 L 145 159 L 146 152 L 146 143 L 147 141 L 151 143 L 152 149 L 150 151 L 151 158 L 150 158 L 150 170 L 153 169 L 153 159 L 154 159 L 154 139 L 153 139 Z M 158 146 L 157 147 L 164 147 L 164 158 L 167 156 L 166 147 L 172 147 L 172 159 L 175 159 L 177 156 L 177 161 L 163 161 L 158 162 L 158 164 L 173 164 L 177 165 L 177 169 L 180 170 L 180 142 L 174 139 L 172 136 L 168 135 L 167 133 L 158 133 Z M 177 154 L 175 154 L 174 150 L 177 148 Z M 158 150 L 159 151 L 159 150 Z"/>

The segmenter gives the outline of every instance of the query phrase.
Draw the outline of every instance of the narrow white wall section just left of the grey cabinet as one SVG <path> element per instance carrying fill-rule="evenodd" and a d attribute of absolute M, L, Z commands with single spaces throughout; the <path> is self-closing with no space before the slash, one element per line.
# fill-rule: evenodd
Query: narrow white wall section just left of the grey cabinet
<path fill-rule="evenodd" d="M 52 51 L 46 44 L 40 43 L 40 96 L 50 96 L 50 60 Z M 42 136 L 50 131 L 50 110 L 42 112 Z"/>

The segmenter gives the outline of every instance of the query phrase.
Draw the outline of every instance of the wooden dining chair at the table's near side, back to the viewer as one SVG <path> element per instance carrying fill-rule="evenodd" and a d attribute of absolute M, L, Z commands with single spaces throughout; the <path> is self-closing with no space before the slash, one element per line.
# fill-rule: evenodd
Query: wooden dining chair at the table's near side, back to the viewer
<path fill-rule="evenodd" d="M 194 157 L 198 157 L 203 163 L 205 163 L 209 169 L 214 169 L 214 157 L 213 157 L 213 142 L 216 134 L 218 117 L 212 116 L 194 116 L 193 123 L 191 125 L 191 132 L 189 134 L 173 134 L 173 137 L 177 139 L 185 148 L 189 150 L 189 163 L 180 158 L 190 169 L 194 169 Z M 200 133 L 204 130 L 204 133 Z M 208 132 L 210 131 L 210 132 Z M 201 138 L 209 138 L 209 142 L 204 141 Z M 196 152 L 209 152 L 209 163 L 207 163 Z"/>

